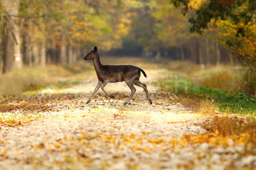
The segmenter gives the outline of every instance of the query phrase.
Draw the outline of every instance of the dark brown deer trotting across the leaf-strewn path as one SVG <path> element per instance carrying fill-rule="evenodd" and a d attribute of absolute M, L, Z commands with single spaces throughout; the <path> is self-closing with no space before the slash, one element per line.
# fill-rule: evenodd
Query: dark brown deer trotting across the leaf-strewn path
<path fill-rule="evenodd" d="M 102 89 L 102 91 L 105 92 L 105 94 L 109 97 L 114 98 L 113 95 L 109 94 L 107 91 L 105 91 L 104 87 L 107 85 L 109 82 L 123 82 L 128 85 L 128 87 L 131 89 L 131 94 L 128 97 L 128 99 L 123 103 L 123 105 L 126 105 L 132 96 L 134 95 L 136 88 L 134 88 L 134 85 L 137 85 L 141 88 L 144 89 L 147 99 L 150 103 L 152 104 L 152 100 L 150 99 L 150 96 L 148 94 L 148 89 L 145 84 L 140 82 L 140 72 L 143 73 L 144 77 L 147 77 L 145 71 L 143 69 L 138 68 L 134 65 L 102 65 L 100 60 L 99 60 L 99 54 L 98 54 L 98 47 L 95 46 L 90 53 L 87 54 L 87 56 L 84 57 L 84 60 L 93 60 L 93 65 L 94 69 L 96 71 L 97 77 L 98 77 L 98 84 L 93 91 L 93 94 L 90 96 L 86 104 L 88 104 L 94 94 L 99 90 L 99 88 Z"/>

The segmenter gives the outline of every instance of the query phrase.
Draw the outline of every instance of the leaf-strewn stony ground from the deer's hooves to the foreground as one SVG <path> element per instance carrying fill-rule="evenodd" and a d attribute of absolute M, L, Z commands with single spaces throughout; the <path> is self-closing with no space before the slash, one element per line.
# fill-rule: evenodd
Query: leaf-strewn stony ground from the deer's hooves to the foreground
<path fill-rule="evenodd" d="M 243 145 L 210 136 L 201 125 L 214 116 L 184 108 L 173 94 L 138 90 L 110 99 L 90 94 L 37 94 L 1 103 L 1 170 L 154 170 L 256 168 Z M 237 119 L 237 116 L 233 116 Z M 205 136 L 213 144 L 205 142 Z M 220 144 L 218 144 L 220 143 Z"/>

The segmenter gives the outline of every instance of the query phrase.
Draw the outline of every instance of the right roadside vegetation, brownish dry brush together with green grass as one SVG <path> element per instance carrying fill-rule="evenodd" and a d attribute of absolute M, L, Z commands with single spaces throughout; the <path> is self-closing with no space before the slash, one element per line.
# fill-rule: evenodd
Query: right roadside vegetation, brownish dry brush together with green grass
<path fill-rule="evenodd" d="M 175 64 L 177 67 L 177 63 Z M 178 84 L 175 84 L 174 77 L 170 78 L 172 83 L 168 86 L 178 88 L 178 99 L 174 102 L 180 102 L 201 113 L 256 115 L 255 70 L 229 65 L 198 70 L 196 67 L 200 68 L 199 65 L 194 67 L 195 71 L 186 71 L 183 68 L 175 71 L 175 74 L 182 75 L 178 78 Z M 181 80 L 187 82 L 187 92 Z M 162 90 L 166 91 L 166 88 L 162 87 Z"/>

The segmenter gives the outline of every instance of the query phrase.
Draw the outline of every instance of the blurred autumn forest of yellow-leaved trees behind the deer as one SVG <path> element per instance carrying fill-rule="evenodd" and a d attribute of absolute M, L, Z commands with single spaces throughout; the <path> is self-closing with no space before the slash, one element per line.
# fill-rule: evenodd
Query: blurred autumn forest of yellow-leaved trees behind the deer
<path fill-rule="evenodd" d="M 189 10 L 184 17 L 182 7 L 166 0 L 11 1 L 0 5 L 3 73 L 23 66 L 72 64 L 95 45 L 102 56 L 157 56 L 204 65 L 233 65 L 234 56 L 255 54 L 250 50 L 255 46 L 250 40 L 254 24 L 247 23 L 244 37 L 236 37 L 239 26 L 230 20 L 211 20 L 204 34 L 190 34 L 188 20 L 195 12 Z M 189 6 L 199 10 L 205 2 L 195 0 Z M 246 45 L 236 45 L 241 41 Z"/>

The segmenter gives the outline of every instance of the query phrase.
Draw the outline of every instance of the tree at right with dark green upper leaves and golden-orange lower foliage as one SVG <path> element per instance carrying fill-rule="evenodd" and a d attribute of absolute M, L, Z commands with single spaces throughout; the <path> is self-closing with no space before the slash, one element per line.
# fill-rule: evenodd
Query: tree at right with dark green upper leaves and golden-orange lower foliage
<path fill-rule="evenodd" d="M 191 0 L 171 0 L 171 3 L 176 7 L 183 5 L 182 13 L 186 15 Z M 190 32 L 202 34 L 202 29 L 208 28 L 208 24 L 212 22 L 213 26 L 219 26 L 220 37 L 224 37 L 222 44 L 227 48 L 231 46 L 234 56 L 241 57 L 247 65 L 256 68 L 255 12 L 255 0 L 204 0 L 195 10 L 197 17 L 189 19 L 189 23 L 192 23 Z M 218 43 L 215 45 L 218 46 Z M 220 56 L 218 51 L 217 54 Z"/>

